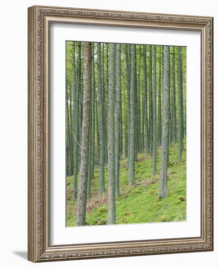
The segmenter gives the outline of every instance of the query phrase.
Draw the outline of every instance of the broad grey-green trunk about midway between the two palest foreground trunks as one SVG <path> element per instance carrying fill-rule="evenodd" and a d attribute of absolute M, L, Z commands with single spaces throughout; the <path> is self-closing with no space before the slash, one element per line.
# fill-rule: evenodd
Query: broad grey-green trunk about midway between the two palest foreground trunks
<path fill-rule="evenodd" d="M 131 46 L 129 185 L 135 180 L 135 65 L 136 46 Z"/>

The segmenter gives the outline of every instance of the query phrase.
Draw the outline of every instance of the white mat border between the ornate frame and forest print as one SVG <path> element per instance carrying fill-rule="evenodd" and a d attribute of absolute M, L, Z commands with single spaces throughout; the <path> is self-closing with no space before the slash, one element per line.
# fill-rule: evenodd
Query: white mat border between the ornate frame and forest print
<path fill-rule="evenodd" d="M 119 33 L 118 33 L 119 32 Z M 187 221 L 65 228 L 65 40 L 186 46 Z M 200 236 L 200 33 L 54 23 L 51 26 L 51 245 Z"/>

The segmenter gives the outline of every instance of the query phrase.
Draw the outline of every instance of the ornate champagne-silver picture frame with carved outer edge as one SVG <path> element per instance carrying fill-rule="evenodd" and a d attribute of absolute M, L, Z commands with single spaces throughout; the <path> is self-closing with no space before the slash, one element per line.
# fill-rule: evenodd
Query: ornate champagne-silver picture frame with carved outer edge
<path fill-rule="evenodd" d="M 78 23 L 201 33 L 201 236 L 50 245 L 49 25 Z M 213 250 L 213 18 L 32 6 L 28 8 L 28 260 L 32 262 Z"/>

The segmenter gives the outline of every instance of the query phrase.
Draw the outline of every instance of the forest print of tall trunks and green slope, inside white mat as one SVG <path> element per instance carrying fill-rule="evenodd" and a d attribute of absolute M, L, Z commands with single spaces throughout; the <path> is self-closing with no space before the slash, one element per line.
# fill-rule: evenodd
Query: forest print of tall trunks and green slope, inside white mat
<path fill-rule="evenodd" d="M 186 47 L 66 41 L 66 227 L 186 221 Z"/>

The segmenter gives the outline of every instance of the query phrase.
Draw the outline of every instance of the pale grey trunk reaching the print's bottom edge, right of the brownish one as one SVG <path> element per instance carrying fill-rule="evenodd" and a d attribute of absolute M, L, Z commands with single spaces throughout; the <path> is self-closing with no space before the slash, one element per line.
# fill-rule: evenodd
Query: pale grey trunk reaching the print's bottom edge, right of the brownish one
<path fill-rule="evenodd" d="M 115 53 L 116 45 L 109 44 L 108 90 L 108 224 L 116 224 L 115 191 Z"/>

